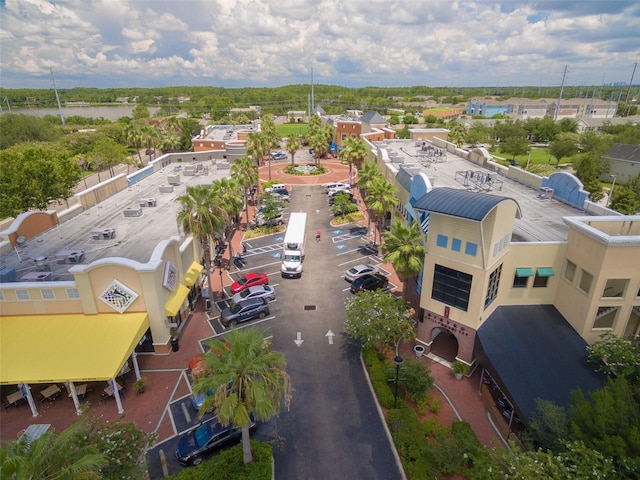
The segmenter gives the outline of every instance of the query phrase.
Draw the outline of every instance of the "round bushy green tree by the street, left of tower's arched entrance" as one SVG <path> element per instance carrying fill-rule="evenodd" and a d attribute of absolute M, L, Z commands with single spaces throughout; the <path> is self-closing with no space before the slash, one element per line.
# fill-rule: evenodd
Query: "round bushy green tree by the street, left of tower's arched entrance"
<path fill-rule="evenodd" d="M 412 342 L 416 338 L 407 315 L 410 307 L 395 295 L 382 290 L 358 292 L 347 299 L 345 306 L 345 332 L 380 352 L 399 341 Z"/>

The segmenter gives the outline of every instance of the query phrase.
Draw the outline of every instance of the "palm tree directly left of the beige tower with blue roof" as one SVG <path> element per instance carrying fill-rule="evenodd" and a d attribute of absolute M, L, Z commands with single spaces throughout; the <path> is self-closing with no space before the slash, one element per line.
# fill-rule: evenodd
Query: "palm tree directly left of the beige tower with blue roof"
<path fill-rule="evenodd" d="M 406 225 L 395 219 L 391 231 L 384 232 L 382 253 L 384 262 L 391 263 L 402 281 L 402 299 L 407 300 L 409 279 L 423 268 L 425 249 L 422 243 L 422 232 L 418 223 L 411 221 Z"/>

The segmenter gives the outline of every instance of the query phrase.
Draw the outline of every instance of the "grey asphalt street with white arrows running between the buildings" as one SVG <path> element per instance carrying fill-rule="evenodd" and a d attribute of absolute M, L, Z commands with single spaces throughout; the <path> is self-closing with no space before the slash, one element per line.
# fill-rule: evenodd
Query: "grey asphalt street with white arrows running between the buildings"
<path fill-rule="evenodd" d="M 362 228 L 330 226 L 322 187 L 295 185 L 288 211 L 308 214 L 302 277 L 281 278 L 283 234 L 250 240 L 246 267 L 240 272 L 269 274 L 276 291 L 271 316 L 240 328 L 260 324 L 270 331 L 274 348 L 287 358 L 293 387 L 290 410 L 283 409 L 280 417 L 261 424 L 254 438 L 273 446 L 278 479 L 401 479 L 362 370 L 360 348 L 344 334 L 344 301 L 351 296 L 344 270 L 379 260 L 362 250 L 367 243 Z M 315 240 L 316 230 L 322 232 L 320 242 Z M 214 321 L 213 326 L 224 334 L 222 325 Z M 179 416 L 184 407 L 174 405 L 174 409 Z M 177 440 L 154 449 L 164 450 L 172 473 L 181 468 L 173 455 Z M 155 453 L 149 457 L 157 458 Z M 150 466 L 152 478 L 161 477 L 158 468 Z"/>

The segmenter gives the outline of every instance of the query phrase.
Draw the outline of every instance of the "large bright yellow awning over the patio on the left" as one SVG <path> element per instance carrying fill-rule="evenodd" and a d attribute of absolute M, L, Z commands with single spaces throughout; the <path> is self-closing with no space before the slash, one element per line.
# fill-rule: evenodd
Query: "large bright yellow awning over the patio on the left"
<path fill-rule="evenodd" d="M 2 317 L 0 384 L 115 378 L 148 328 L 146 312 Z"/>

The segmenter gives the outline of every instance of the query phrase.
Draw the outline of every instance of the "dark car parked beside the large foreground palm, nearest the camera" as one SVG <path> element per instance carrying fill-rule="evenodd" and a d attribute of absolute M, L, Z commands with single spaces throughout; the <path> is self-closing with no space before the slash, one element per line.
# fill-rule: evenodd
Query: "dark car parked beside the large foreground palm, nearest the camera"
<path fill-rule="evenodd" d="M 256 428 L 257 424 L 252 416 L 249 432 L 255 432 Z M 176 457 L 180 465 L 198 465 L 205 455 L 238 443 L 241 439 L 242 430 L 231 425 L 220 425 L 217 417 L 213 417 L 180 438 Z"/>

